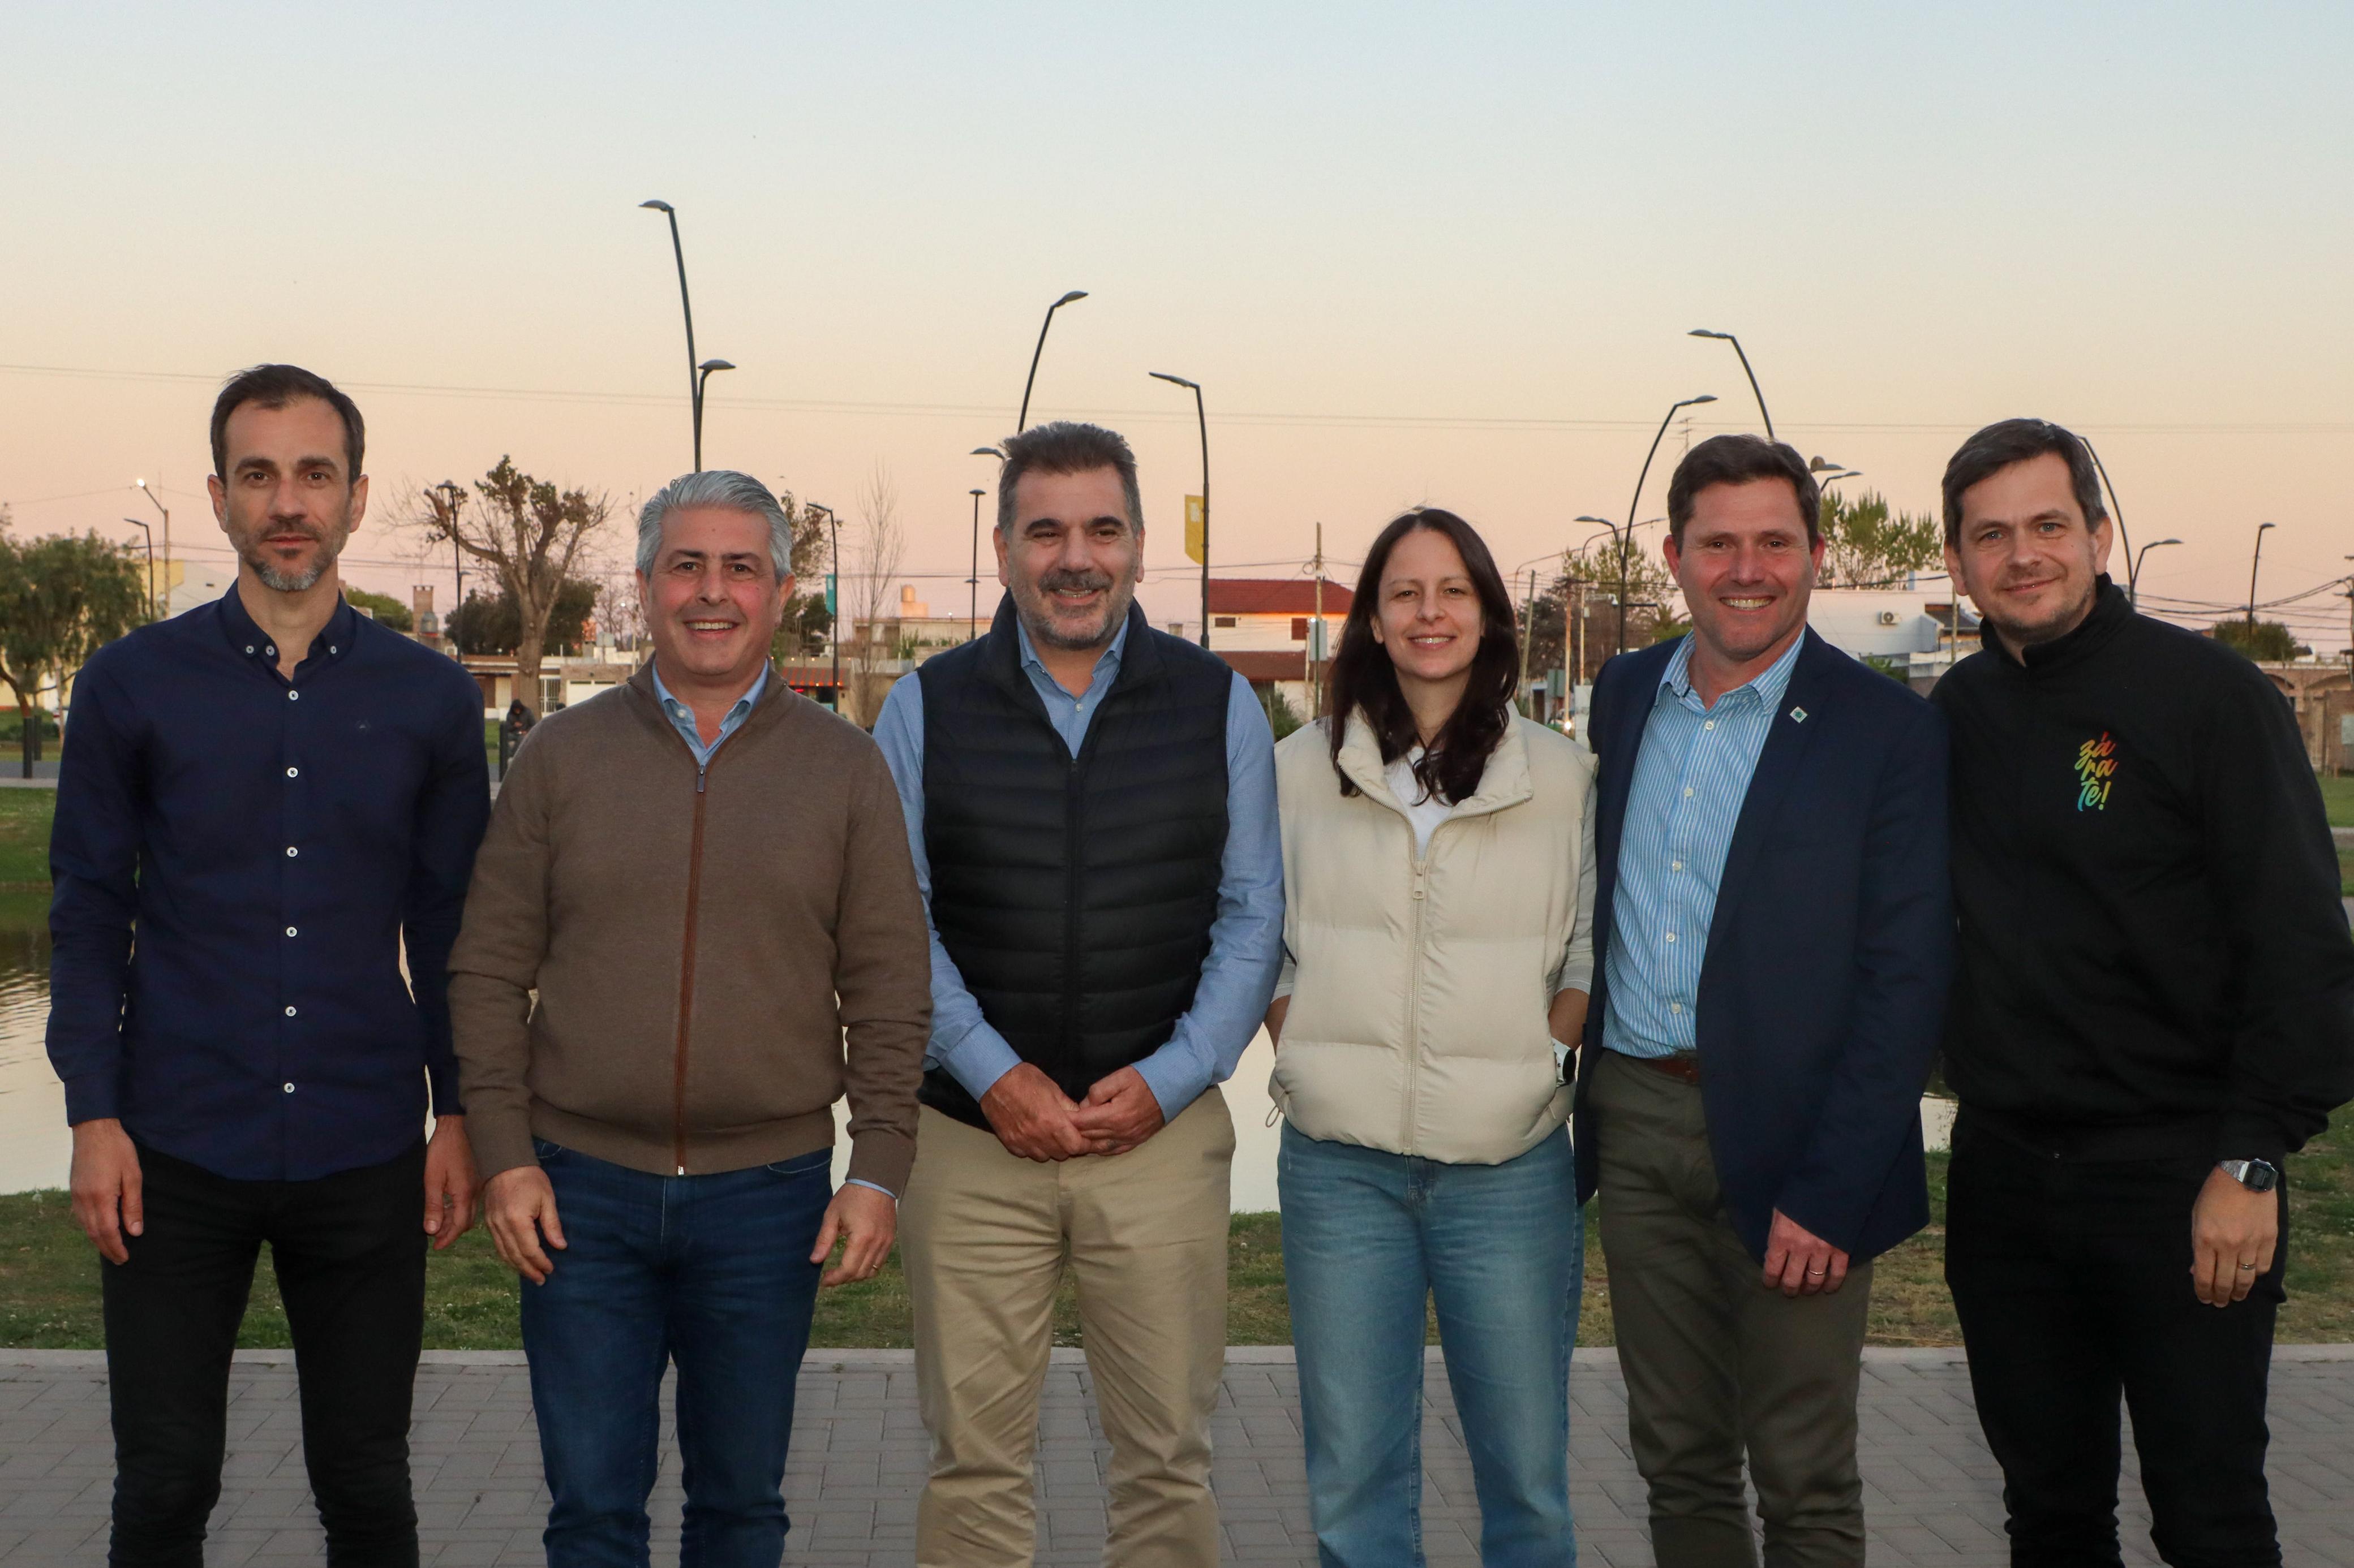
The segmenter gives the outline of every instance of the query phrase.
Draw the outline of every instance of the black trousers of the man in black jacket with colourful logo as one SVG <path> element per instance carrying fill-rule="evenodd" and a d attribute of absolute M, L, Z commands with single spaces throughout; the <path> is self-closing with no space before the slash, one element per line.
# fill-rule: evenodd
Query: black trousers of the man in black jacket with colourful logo
<path fill-rule="evenodd" d="M 1968 1111 L 1947 1180 L 1944 1278 L 1970 1391 L 2003 1467 L 2010 1561 L 2119 1563 L 2119 1394 L 2177 1568 L 2281 1561 L 2265 1490 L 2265 1382 L 2288 1255 L 2248 1300 L 2192 1295 L 2192 1203 L 2215 1161 L 2079 1161 L 2032 1151 Z"/>

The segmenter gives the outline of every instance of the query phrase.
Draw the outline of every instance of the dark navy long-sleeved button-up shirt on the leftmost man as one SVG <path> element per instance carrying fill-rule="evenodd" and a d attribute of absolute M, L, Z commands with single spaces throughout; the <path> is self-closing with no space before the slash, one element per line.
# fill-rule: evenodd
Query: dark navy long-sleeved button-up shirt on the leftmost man
<path fill-rule="evenodd" d="M 101 647 L 49 838 L 66 1121 L 240 1182 L 410 1149 L 428 1081 L 459 1111 L 445 965 L 487 819 L 480 687 L 348 603 L 292 680 L 235 589 Z"/>

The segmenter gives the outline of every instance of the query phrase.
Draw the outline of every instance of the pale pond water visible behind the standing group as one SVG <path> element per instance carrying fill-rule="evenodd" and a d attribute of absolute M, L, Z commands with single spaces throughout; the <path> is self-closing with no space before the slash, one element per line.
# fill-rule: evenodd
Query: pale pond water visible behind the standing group
<path fill-rule="evenodd" d="M 66 1088 L 49 1071 L 49 895 L 0 892 L 0 1191 L 64 1187 L 73 1158 Z M 1233 1114 L 1233 1208 L 1276 1208 L 1276 1128 L 1266 1125 L 1274 1050 L 1262 1031 L 1226 1085 Z M 836 1104 L 836 1125 L 847 1109 Z M 850 1163 L 836 1142 L 833 1177 Z"/>

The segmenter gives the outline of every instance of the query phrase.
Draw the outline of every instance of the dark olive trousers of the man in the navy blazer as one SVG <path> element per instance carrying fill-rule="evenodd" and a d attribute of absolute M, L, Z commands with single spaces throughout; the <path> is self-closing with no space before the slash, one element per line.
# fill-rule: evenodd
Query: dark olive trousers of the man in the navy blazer
<path fill-rule="evenodd" d="M 1725 1220 L 1700 1088 L 1587 1055 L 1627 1434 L 1660 1568 L 1758 1561 L 1744 1453 L 1768 1568 L 1862 1563 L 1855 1384 L 1871 1264 L 1829 1295 L 1761 1285 Z"/>

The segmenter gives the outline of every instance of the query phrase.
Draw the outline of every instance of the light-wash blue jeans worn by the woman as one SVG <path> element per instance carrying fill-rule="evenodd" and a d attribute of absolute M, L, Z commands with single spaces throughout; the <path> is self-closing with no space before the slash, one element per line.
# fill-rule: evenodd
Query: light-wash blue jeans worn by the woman
<path fill-rule="evenodd" d="M 1283 1128 L 1283 1274 L 1316 1561 L 1422 1563 L 1422 1326 L 1471 1450 L 1485 1568 L 1568 1568 L 1570 1347 L 1587 1267 L 1568 1132 L 1448 1165 Z"/>

